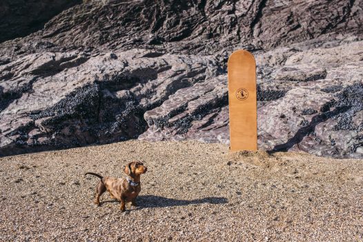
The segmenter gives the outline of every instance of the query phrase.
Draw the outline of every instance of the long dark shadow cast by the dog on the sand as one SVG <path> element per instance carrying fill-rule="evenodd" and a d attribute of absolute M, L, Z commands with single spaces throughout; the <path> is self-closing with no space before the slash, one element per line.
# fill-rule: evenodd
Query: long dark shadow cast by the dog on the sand
<path fill-rule="evenodd" d="M 110 202 L 118 203 L 119 201 L 111 200 L 111 201 L 104 201 L 103 203 L 110 203 Z M 137 197 L 136 202 L 138 205 L 138 209 L 142 209 L 142 208 L 168 208 L 168 207 L 177 207 L 177 206 L 202 204 L 202 203 L 224 204 L 228 203 L 228 199 L 224 197 L 210 196 L 210 197 L 205 197 L 203 199 L 181 200 L 181 199 L 168 199 L 163 196 L 141 195 Z"/>

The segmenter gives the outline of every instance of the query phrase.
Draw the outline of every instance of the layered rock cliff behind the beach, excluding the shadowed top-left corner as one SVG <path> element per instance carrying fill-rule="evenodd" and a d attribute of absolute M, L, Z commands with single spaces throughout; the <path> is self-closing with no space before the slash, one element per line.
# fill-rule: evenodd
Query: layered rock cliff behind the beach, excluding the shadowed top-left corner
<path fill-rule="evenodd" d="M 0 48 L 0 155 L 228 143 L 226 61 L 244 48 L 257 61 L 259 148 L 363 157 L 361 6 L 84 1 Z"/>

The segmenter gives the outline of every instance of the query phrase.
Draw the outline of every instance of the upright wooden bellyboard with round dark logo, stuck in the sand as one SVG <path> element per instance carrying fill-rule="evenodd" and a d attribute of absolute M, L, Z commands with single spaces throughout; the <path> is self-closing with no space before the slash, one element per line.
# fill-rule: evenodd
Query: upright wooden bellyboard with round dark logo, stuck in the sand
<path fill-rule="evenodd" d="M 230 151 L 257 150 L 256 62 L 246 50 L 228 59 Z"/>

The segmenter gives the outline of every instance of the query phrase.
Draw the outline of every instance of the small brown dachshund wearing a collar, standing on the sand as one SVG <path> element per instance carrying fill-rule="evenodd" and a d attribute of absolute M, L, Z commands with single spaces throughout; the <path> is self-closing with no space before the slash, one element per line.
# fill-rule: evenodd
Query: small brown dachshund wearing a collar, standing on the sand
<path fill-rule="evenodd" d="M 131 205 L 136 205 L 136 197 L 141 191 L 140 176 L 148 170 L 143 163 L 133 161 L 125 166 L 124 172 L 128 175 L 126 179 L 114 178 L 114 177 L 102 177 L 99 174 L 87 172 L 93 176 L 99 177 L 99 181 L 96 188 L 95 204 L 99 205 L 99 196 L 101 196 L 106 190 L 110 193 L 112 199 L 121 201 L 121 211 L 125 211 L 125 203 L 131 202 Z M 85 174 L 85 175 L 86 175 Z"/>

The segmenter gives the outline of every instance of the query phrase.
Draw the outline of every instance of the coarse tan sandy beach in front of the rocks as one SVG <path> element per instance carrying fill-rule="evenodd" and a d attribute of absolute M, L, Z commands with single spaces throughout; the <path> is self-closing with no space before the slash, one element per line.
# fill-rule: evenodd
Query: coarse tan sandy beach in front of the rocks
<path fill-rule="evenodd" d="M 97 177 L 142 161 L 138 208 Z M 363 160 L 126 141 L 0 159 L 0 241 L 363 241 Z"/>

